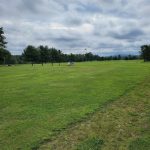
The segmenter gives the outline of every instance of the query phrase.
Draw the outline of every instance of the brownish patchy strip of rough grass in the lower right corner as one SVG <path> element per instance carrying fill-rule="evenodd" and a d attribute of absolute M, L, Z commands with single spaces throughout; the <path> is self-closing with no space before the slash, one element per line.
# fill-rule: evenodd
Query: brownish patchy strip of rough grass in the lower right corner
<path fill-rule="evenodd" d="M 138 85 L 88 120 L 40 147 L 55 150 L 149 150 L 150 80 Z"/>

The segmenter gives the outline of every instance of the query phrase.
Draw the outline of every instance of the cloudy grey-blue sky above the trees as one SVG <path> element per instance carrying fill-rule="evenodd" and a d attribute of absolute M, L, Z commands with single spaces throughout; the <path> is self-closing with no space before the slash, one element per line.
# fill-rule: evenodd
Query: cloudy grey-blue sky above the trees
<path fill-rule="evenodd" d="M 17 55 L 27 45 L 138 54 L 150 43 L 149 15 L 150 0 L 0 0 L 0 27 L 7 49 Z"/>

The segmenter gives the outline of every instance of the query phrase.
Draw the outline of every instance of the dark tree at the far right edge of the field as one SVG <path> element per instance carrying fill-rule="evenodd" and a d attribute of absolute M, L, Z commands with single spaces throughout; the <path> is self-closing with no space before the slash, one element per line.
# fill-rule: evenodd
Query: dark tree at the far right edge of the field
<path fill-rule="evenodd" d="M 141 46 L 141 56 L 144 61 L 150 61 L 150 45 Z"/>

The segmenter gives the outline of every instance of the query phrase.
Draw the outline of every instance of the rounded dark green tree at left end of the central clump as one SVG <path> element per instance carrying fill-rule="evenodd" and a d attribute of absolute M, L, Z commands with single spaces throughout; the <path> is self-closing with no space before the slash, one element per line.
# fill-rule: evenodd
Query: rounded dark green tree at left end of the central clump
<path fill-rule="evenodd" d="M 25 58 L 25 60 L 31 62 L 33 66 L 34 63 L 40 61 L 40 52 L 34 46 L 29 45 L 24 50 L 23 57 Z"/>

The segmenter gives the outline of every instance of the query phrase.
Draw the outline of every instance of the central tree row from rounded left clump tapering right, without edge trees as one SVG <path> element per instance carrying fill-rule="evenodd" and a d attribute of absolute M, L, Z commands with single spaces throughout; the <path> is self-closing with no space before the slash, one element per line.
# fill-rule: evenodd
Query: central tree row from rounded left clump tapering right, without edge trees
<path fill-rule="evenodd" d="M 62 51 L 56 48 L 49 48 L 48 46 L 40 45 L 38 47 L 34 47 L 29 45 L 25 48 L 22 58 L 24 58 L 25 62 L 34 63 L 59 63 L 60 62 L 82 62 L 82 61 L 103 61 L 103 60 L 134 60 L 139 59 L 139 56 L 127 55 L 127 56 L 108 56 L 101 57 L 99 55 L 94 55 L 91 52 L 86 54 L 64 54 Z"/>

